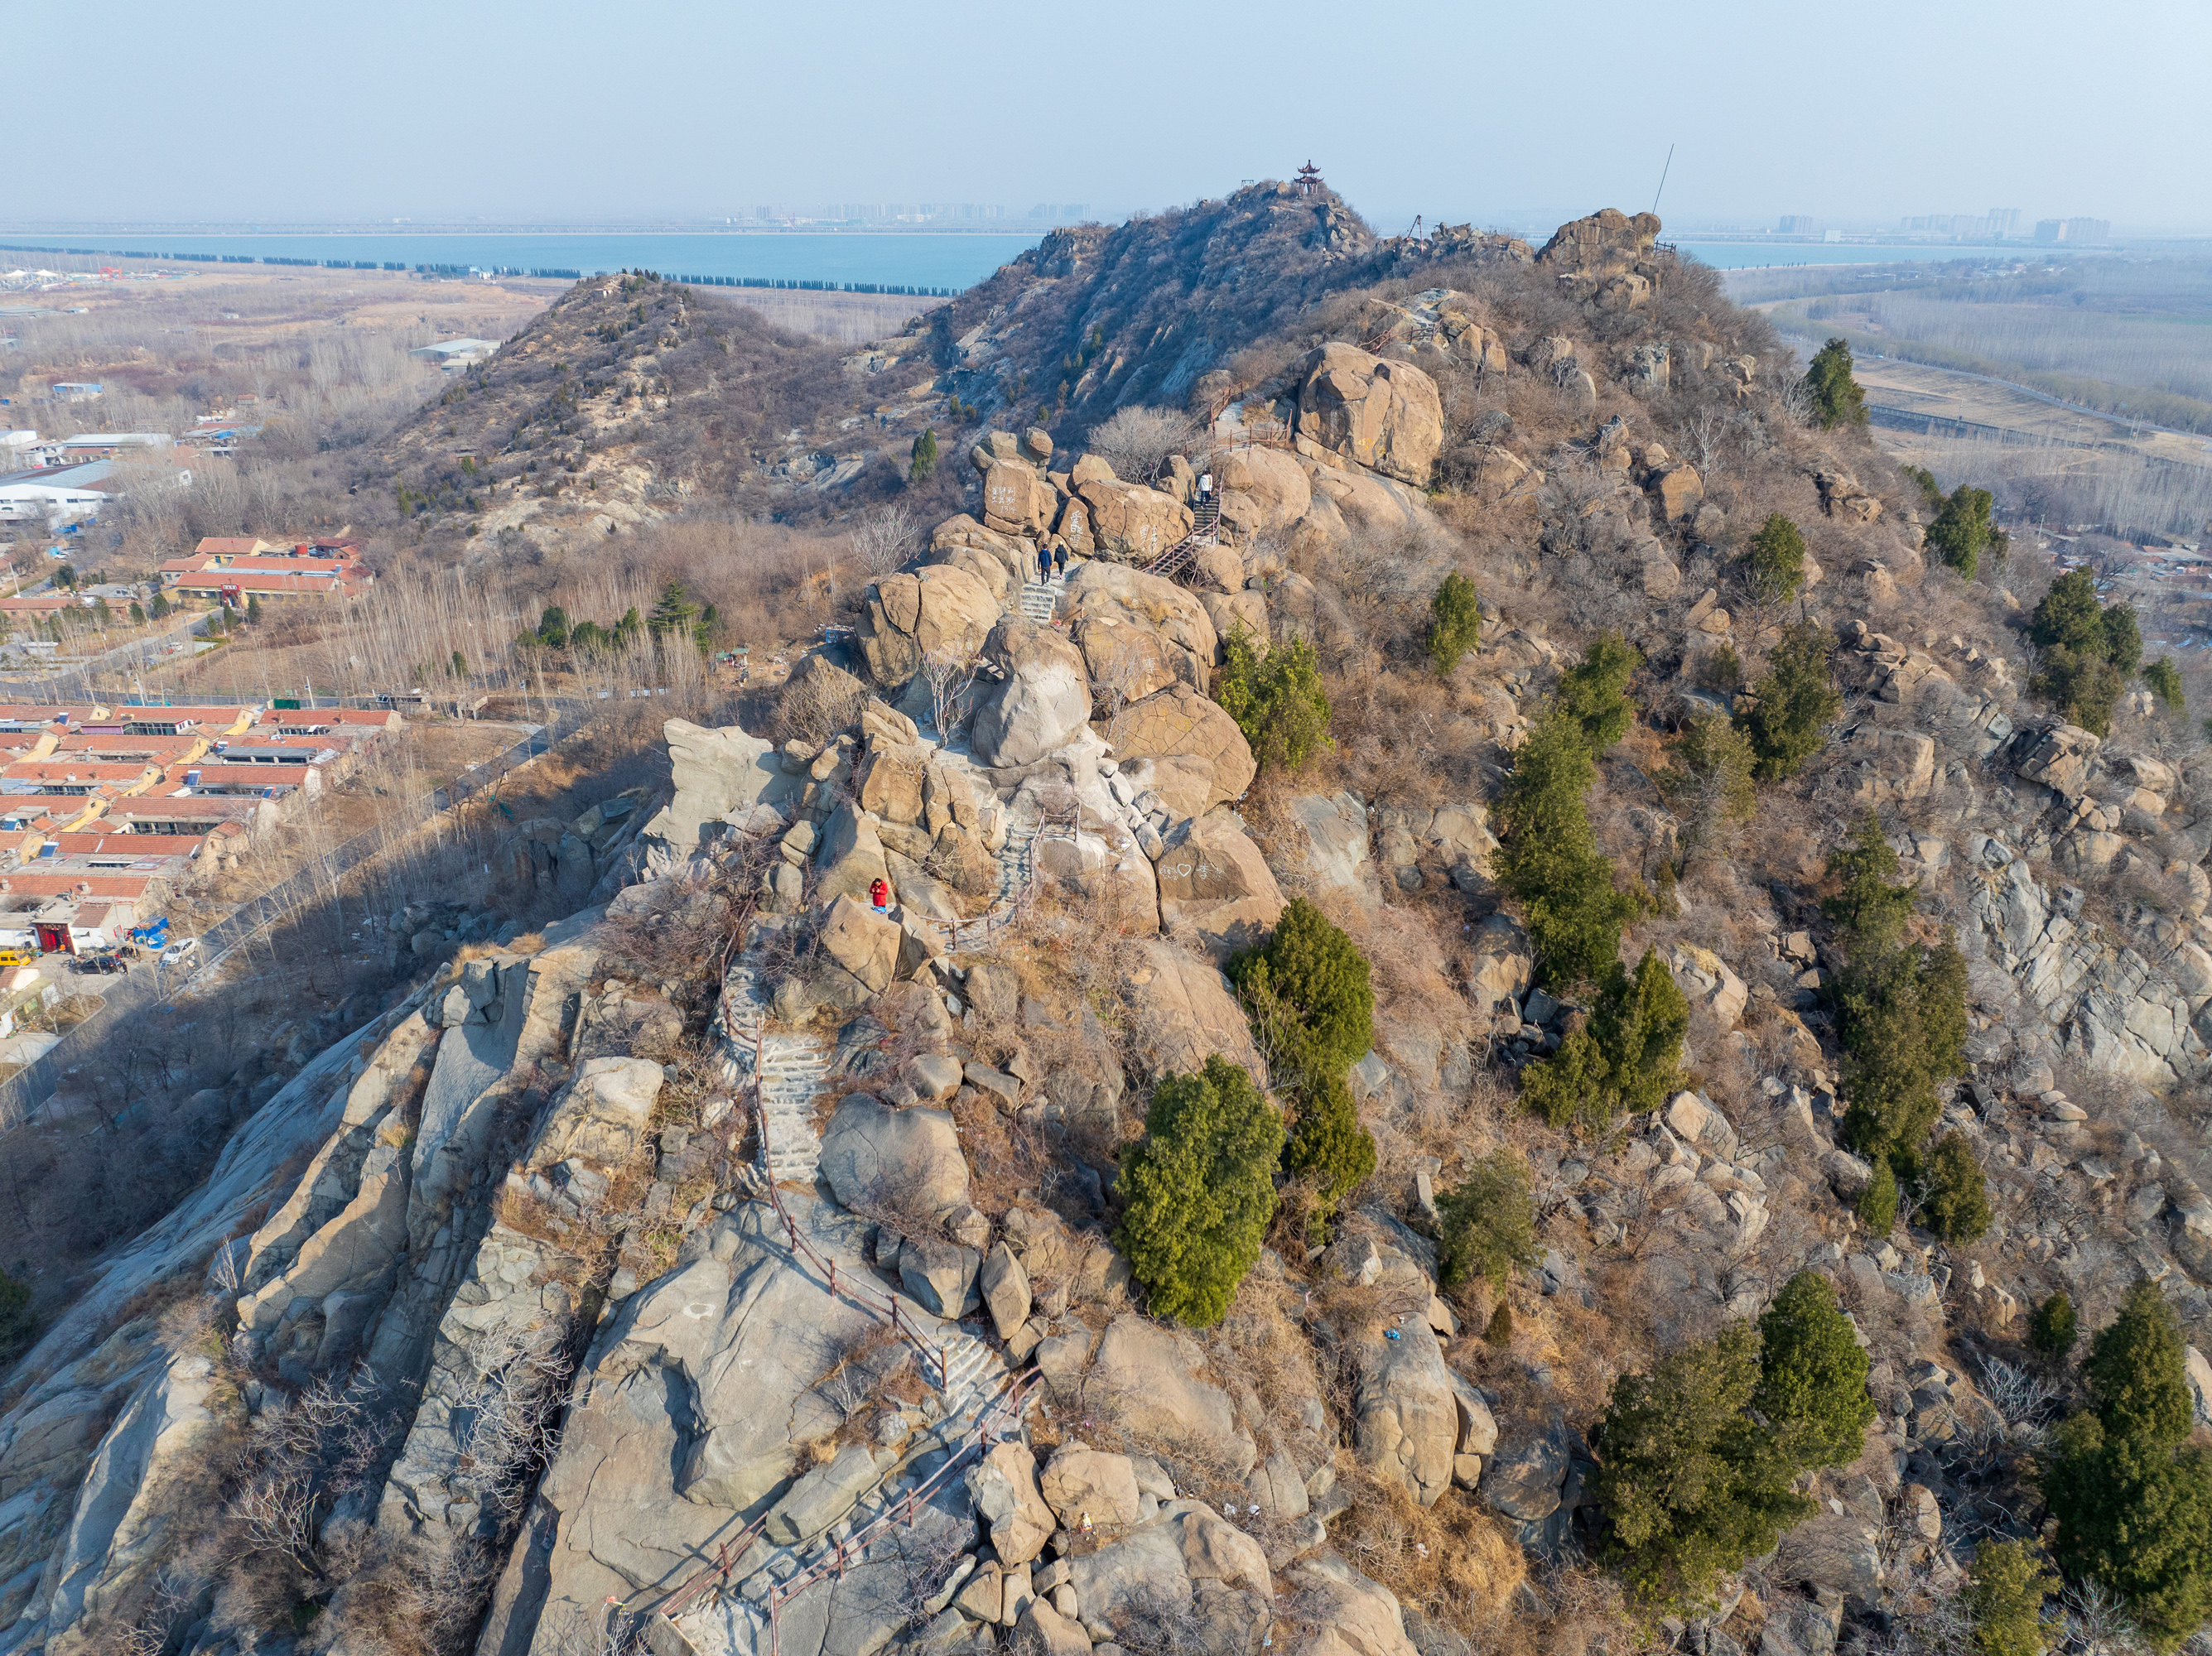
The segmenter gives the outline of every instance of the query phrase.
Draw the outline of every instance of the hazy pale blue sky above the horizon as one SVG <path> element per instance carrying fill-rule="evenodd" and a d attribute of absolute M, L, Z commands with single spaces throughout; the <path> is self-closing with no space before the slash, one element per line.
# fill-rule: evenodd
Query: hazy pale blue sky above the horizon
<path fill-rule="evenodd" d="M 9 9 L 4 219 L 624 219 L 1223 195 L 1378 228 L 2017 206 L 2212 226 L 2205 0 Z M 51 157 L 51 161 L 49 161 Z"/>

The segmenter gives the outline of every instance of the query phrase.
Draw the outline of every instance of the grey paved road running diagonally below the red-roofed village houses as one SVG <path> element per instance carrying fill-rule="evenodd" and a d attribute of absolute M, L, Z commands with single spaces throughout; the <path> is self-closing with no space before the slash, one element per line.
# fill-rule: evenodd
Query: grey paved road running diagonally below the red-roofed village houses
<path fill-rule="evenodd" d="M 416 798 L 414 805 L 420 811 L 416 825 L 427 822 L 440 811 L 453 809 L 476 794 L 482 794 L 500 776 L 507 776 L 518 765 L 531 763 L 538 754 L 553 747 L 553 743 L 573 734 L 586 716 L 588 708 L 575 708 L 562 712 L 553 725 L 526 725 L 520 741 L 504 752 L 487 758 L 482 765 L 473 765 L 445 787 Z M 71 977 L 73 991 L 102 993 L 102 1006 L 88 1019 L 66 1030 L 60 1044 L 44 1052 L 35 1063 L 29 1063 L 18 1075 L 0 1081 L 0 1125 L 20 1121 L 51 1099 L 60 1079 L 73 1068 L 82 1068 L 84 1059 L 95 1052 L 100 1041 L 106 1039 L 106 1035 L 124 1019 L 173 1002 L 181 988 L 208 973 L 219 960 L 223 960 L 223 955 L 243 944 L 272 920 L 281 920 L 310 902 L 332 880 L 343 878 L 347 871 L 374 856 L 385 840 L 385 829 L 356 834 L 352 840 L 332 851 L 325 864 L 301 869 L 292 878 L 279 880 L 261 895 L 241 902 L 223 920 L 199 933 L 199 962 L 188 973 L 161 966 L 139 966 L 124 977 Z"/>

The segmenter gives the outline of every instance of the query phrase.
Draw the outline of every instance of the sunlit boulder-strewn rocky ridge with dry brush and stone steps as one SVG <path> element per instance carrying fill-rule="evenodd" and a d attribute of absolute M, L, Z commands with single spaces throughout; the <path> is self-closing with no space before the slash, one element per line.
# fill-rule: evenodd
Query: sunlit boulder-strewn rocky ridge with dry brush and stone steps
<path fill-rule="evenodd" d="M 1287 239 L 1281 292 L 1307 259 L 1387 281 L 1343 336 L 1168 340 L 1082 391 L 1219 376 L 1219 447 L 1159 486 L 1044 429 L 978 440 L 975 511 L 752 730 L 670 721 L 668 798 L 518 829 L 571 920 L 307 1063 L 20 1364 L 0 1652 L 1832 1656 L 2033 1530 L 2031 1302 L 2097 1320 L 2157 1280 L 2212 1424 L 2201 761 L 2143 708 L 2110 738 L 2037 708 L 2033 593 L 1931 570 L 1918 493 L 1790 420 L 1785 365 L 1683 310 L 1655 221 L 1413 250 L 1234 203 Z M 1022 281 L 1135 281 L 1139 232 Z M 1416 287 L 1447 254 L 1469 285 Z M 1035 287 L 1006 281 L 962 352 L 1013 358 Z M 1219 533 L 1190 539 L 1201 464 Z M 1635 931 L 1694 1083 L 1553 1132 L 1515 1072 L 1575 1008 L 1491 884 L 1493 787 L 1617 626 L 1646 670 L 1599 834 L 1681 858 L 1650 776 L 1772 639 L 1734 573 L 1767 511 L 1805 524 L 1843 716 Z M 1075 564 L 1037 584 L 1053 537 Z M 1418 654 L 1444 568 L 1491 610 L 1449 681 Z M 1212 701 L 1239 628 L 1316 646 L 1321 769 L 1263 776 Z M 1816 898 L 1869 807 L 1969 962 L 1969 1247 L 1854 1212 Z M 1376 968 L 1352 1088 L 1380 1165 L 1325 1247 L 1279 1227 L 1219 1327 L 1175 1329 L 1115 1251 L 1115 1156 L 1164 1075 L 1267 1081 L 1221 964 L 1294 895 Z M 1447 1289 L 1436 1196 L 1495 1145 L 1542 1260 Z M 1865 1453 L 1719 1603 L 1632 1618 L 1590 1563 L 1606 1386 L 1803 1269 L 1874 1360 Z M 1478 1338 L 1500 1302 L 1511 1344 Z"/>

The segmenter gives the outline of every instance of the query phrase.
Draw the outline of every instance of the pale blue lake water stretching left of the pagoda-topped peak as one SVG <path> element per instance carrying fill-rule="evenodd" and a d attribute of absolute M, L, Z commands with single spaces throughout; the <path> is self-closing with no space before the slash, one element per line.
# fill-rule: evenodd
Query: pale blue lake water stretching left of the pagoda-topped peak
<path fill-rule="evenodd" d="M 100 254 L 177 254 L 307 259 L 325 263 L 458 265 L 467 270 L 657 270 L 664 276 L 869 283 L 883 287 L 973 287 L 1037 237 L 998 232 L 825 234 L 748 230 L 726 234 L 268 234 L 175 237 L 131 230 L 122 237 L 60 239 L 0 234 L 0 243 Z M 0 252 L 0 263 L 35 254 Z"/>

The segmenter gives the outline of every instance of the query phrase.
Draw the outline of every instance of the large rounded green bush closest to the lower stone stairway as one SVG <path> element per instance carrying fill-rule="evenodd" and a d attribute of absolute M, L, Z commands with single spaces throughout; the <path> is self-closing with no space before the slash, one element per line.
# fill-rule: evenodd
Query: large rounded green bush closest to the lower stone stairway
<path fill-rule="evenodd" d="M 1274 1218 L 1281 1156 L 1283 1117 L 1241 1066 L 1217 1055 L 1152 1088 L 1144 1139 L 1121 1165 L 1117 1243 L 1155 1316 L 1221 1320 Z"/>

